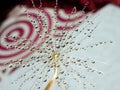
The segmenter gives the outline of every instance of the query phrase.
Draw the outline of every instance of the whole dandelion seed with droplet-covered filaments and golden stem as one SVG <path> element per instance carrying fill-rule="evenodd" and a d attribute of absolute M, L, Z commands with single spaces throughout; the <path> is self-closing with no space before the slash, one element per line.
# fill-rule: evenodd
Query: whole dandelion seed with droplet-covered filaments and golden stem
<path fill-rule="evenodd" d="M 65 26 L 62 26 L 62 30 L 60 31 L 58 30 L 60 27 L 57 17 L 58 0 L 56 0 L 54 15 L 52 16 L 53 22 L 55 23 L 55 25 L 53 25 L 54 27 L 49 25 L 53 22 L 51 22 L 50 15 L 42 10 L 41 0 L 39 6 L 41 10 L 37 9 L 34 0 L 31 0 L 31 3 L 35 10 L 26 8 L 25 14 L 20 15 L 20 17 L 26 17 L 30 22 L 16 22 L 17 24 L 23 22 L 28 25 L 31 31 L 29 35 L 27 37 L 22 37 L 23 30 L 20 29 L 21 35 L 19 35 L 19 37 L 14 35 L 4 38 L 1 37 L 3 40 L 7 38 L 8 41 L 14 41 L 14 45 L 7 44 L 7 48 L 5 49 L 8 51 L 16 50 L 14 55 L 20 55 L 15 61 L 14 55 L 8 55 L 8 57 L 13 58 L 9 61 L 9 63 L 12 63 L 9 64 L 8 68 L 13 68 L 15 66 L 26 70 L 22 75 L 18 76 L 17 79 L 11 81 L 11 84 L 19 84 L 18 90 L 25 89 L 24 86 L 26 86 L 30 80 L 33 81 L 29 88 L 30 90 L 49 90 L 54 83 L 57 83 L 58 88 L 61 90 L 70 90 L 72 86 L 74 86 L 73 83 L 77 87 L 80 86 L 82 89 L 86 89 L 89 86 L 95 87 L 88 81 L 86 73 L 102 74 L 101 71 L 92 67 L 97 62 L 89 58 L 82 58 L 80 55 L 78 57 L 77 54 L 79 54 L 79 51 L 87 51 L 90 48 L 112 43 L 112 41 L 100 41 L 82 46 L 82 43 L 87 38 L 91 38 L 92 33 L 97 27 L 94 26 L 93 21 L 89 20 L 89 16 L 86 15 L 83 20 L 77 22 L 77 25 L 86 23 L 81 30 L 77 28 L 77 25 L 74 25 L 74 22 L 71 24 L 66 22 Z M 81 10 L 82 14 L 84 14 L 83 11 L 88 4 L 89 3 L 86 3 L 85 7 Z M 78 17 L 76 13 L 77 10 L 74 7 L 70 15 Z M 68 21 L 71 19 L 70 15 L 68 15 L 67 18 Z M 94 27 L 91 28 L 90 26 Z M 2 43 L 1 46 L 3 46 Z M 5 46 L 3 46 L 3 48 L 4 47 Z M 34 53 L 36 54 L 34 55 Z M 3 56 L 0 56 L 0 58 L 2 57 Z M 7 65 L 3 65 L 3 67 L 4 66 Z M 53 74 L 51 75 L 52 72 Z M 73 83 L 71 83 L 71 81 L 73 81 Z"/>

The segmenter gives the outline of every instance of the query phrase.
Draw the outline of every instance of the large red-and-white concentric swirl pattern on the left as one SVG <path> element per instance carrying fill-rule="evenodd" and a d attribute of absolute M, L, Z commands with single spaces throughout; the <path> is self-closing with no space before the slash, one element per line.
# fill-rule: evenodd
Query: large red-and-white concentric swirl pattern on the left
<path fill-rule="evenodd" d="M 33 53 L 15 47 L 24 47 L 24 43 L 29 47 L 30 41 L 39 46 L 45 32 L 50 33 L 51 23 L 49 14 L 38 9 L 27 9 L 26 12 L 8 18 L 0 29 L 0 65 L 24 59 Z"/>

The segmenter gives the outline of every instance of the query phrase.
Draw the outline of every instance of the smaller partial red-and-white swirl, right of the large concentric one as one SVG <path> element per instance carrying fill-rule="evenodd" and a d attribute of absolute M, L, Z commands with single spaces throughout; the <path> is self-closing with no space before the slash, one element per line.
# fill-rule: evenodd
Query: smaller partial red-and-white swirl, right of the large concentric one
<path fill-rule="evenodd" d="M 59 25 L 57 25 L 58 30 L 71 30 L 77 27 L 85 19 L 86 13 L 83 11 L 77 11 L 73 8 L 71 11 L 67 10 L 57 10 L 57 19 Z"/>

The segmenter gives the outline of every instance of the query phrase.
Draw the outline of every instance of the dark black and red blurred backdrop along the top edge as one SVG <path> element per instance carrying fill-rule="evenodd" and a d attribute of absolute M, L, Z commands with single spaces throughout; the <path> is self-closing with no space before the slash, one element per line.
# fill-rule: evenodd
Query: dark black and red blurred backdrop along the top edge
<path fill-rule="evenodd" d="M 39 0 L 33 0 L 36 6 L 39 6 Z M 56 0 L 41 0 L 43 7 L 54 7 Z M 108 3 L 113 3 L 120 5 L 120 0 L 58 0 L 58 7 L 71 9 L 73 6 L 76 6 L 77 9 L 82 9 L 82 7 L 89 2 L 87 11 L 89 10 L 98 10 Z M 0 0 L 0 24 L 7 17 L 7 14 L 14 8 L 16 5 L 23 4 L 29 7 L 32 7 L 31 0 L 14 0 L 8 2 L 8 0 Z"/>

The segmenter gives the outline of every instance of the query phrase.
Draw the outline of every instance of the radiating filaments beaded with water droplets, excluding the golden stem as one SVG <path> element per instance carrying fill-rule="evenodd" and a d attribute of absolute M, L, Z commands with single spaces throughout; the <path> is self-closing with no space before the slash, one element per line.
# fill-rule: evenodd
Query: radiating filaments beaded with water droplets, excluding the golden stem
<path fill-rule="evenodd" d="M 31 1 L 33 7 L 36 8 L 34 1 Z M 58 23 L 56 17 L 57 4 L 58 1 L 56 0 L 54 12 L 55 16 L 53 17 L 55 20 L 55 24 Z M 40 8 L 41 7 L 42 2 L 40 1 Z M 11 84 L 14 85 L 20 83 L 18 89 L 22 90 L 25 84 L 30 82 L 30 80 L 33 80 L 29 89 L 43 90 L 47 82 L 49 82 L 51 72 L 54 71 L 52 55 L 57 52 L 59 53 L 59 57 L 57 58 L 58 76 L 56 78 L 56 82 L 61 90 L 69 90 L 72 84 L 70 83 L 70 81 L 73 81 L 73 83 L 77 82 L 77 86 L 83 87 L 84 89 L 86 89 L 87 86 L 95 87 L 91 82 L 88 81 L 85 74 L 102 74 L 101 71 L 91 67 L 92 65 L 96 64 L 96 61 L 90 58 L 76 57 L 72 54 L 74 54 L 75 52 L 78 53 L 78 51 L 82 50 L 86 51 L 89 48 L 98 47 L 99 45 L 109 44 L 112 43 L 112 41 L 100 41 L 84 47 L 81 46 L 81 43 L 86 38 L 91 38 L 92 33 L 94 32 L 94 30 L 96 30 L 97 27 L 97 25 L 94 25 L 92 21 L 89 21 L 89 16 L 87 15 L 84 17 L 83 20 L 80 20 L 78 22 L 79 25 L 82 25 L 85 22 L 87 23 L 87 25 L 84 26 L 82 29 L 76 27 L 73 29 L 73 26 L 71 26 L 72 30 L 66 30 L 66 28 L 64 28 L 64 30 L 57 31 L 55 27 L 56 25 L 54 25 L 54 28 L 52 28 L 52 30 L 48 32 L 47 30 L 40 31 L 38 29 L 39 27 L 36 26 L 36 20 L 30 18 L 31 16 L 28 14 L 28 11 L 29 10 L 26 9 L 26 18 L 29 18 L 33 23 L 34 30 L 39 36 L 41 42 L 33 42 L 31 39 L 16 37 L 14 35 L 10 37 L 5 37 L 16 42 L 15 45 L 7 44 L 7 49 L 10 50 L 14 48 L 16 50 L 27 50 L 29 52 L 35 53 L 33 55 L 30 55 L 30 58 L 20 58 L 16 61 L 11 60 L 10 63 L 5 64 L 5 66 L 8 66 L 7 68 L 17 68 L 22 66 L 23 69 L 27 69 L 27 71 L 25 71 L 22 75 L 18 76 L 17 79 L 12 81 Z M 38 18 L 41 17 L 40 13 L 43 11 L 38 10 L 36 12 L 38 12 Z M 44 19 L 44 17 L 41 18 Z M 38 23 L 41 25 L 40 20 L 38 21 Z M 45 28 L 48 27 L 46 19 L 44 19 L 43 21 L 46 23 L 42 26 L 44 26 Z M 93 28 L 89 28 L 89 26 L 91 25 L 93 25 Z M 67 23 L 65 26 L 67 26 Z M 45 37 L 43 37 L 43 35 L 45 35 Z M 79 37 L 81 35 L 82 38 Z M 17 41 L 17 38 L 19 38 L 20 40 Z"/>

